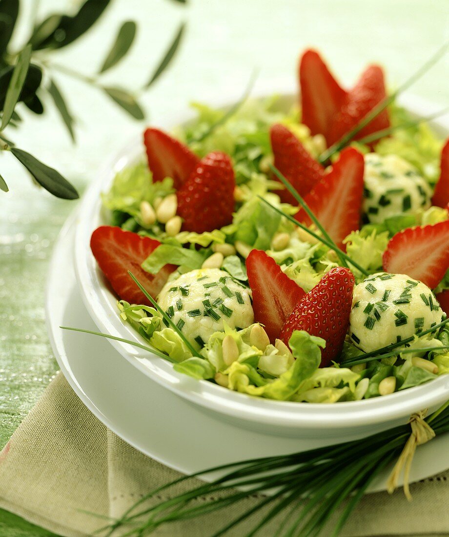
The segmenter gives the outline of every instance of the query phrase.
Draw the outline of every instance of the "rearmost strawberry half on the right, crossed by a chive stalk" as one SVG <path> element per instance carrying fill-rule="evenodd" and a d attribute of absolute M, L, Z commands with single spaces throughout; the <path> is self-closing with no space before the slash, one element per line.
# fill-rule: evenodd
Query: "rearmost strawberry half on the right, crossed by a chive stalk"
<path fill-rule="evenodd" d="M 360 76 L 357 84 L 347 93 L 341 110 L 335 116 L 328 143 L 331 145 L 341 140 L 386 96 L 383 71 L 379 66 L 369 66 Z M 388 112 L 383 110 L 368 125 L 357 133 L 355 139 L 388 128 Z"/>

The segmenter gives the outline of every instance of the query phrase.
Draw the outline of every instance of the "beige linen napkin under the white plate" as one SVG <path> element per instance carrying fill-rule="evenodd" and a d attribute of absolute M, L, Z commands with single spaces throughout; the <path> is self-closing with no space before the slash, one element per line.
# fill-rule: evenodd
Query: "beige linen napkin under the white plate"
<path fill-rule="evenodd" d="M 179 475 L 107 430 L 60 373 L 0 453 L 0 507 L 64 537 L 84 537 Z M 170 494 L 199 483 L 186 481 Z M 411 503 L 401 490 L 366 495 L 342 536 L 449 535 L 449 471 L 412 484 L 411 492 Z M 206 537 L 256 502 L 249 498 L 238 508 L 166 525 L 155 535 Z M 251 520 L 229 535 L 250 527 Z M 271 536 L 276 527 L 259 535 Z"/>

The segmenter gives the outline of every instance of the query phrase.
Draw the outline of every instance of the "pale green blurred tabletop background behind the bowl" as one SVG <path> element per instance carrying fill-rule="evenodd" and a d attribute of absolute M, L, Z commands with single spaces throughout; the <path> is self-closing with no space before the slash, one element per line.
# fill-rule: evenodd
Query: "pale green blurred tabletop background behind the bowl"
<path fill-rule="evenodd" d="M 24 1 L 15 45 L 20 47 L 36 9 L 44 16 L 66 6 L 73 8 L 74 2 Z M 298 55 L 307 46 L 320 49 L 346 84 L 366 63 L 376 61 L 386 67 L 394 87 L 449 39 L 447 0 L 190 0 L 186 5 L 115 0 L 84 38 L 52 54 L 51 61 L 94 73 L 118 25 L 127 19 L 139 23 L 136 42 L 106 81 L 132 90 L 146 82 L 180 21 L 187 21 L 175 63 L 142 97 L 147 123 L 154 125 L 165 114 L 182 112 L 192 100 L 207 102 L 221 95 L 226 100 L 228 94 L 243 92 L 255 68 L 259 88 L 278 79 L 291 84 Z M 448 67 L 445 57 L 411 92 L 447 106 Z M 102 161 L 140 133 L 143 124 L 129 119 L 95 88 L 62 74 L 55 78 L 77 118 L 76 146 L 51 106 L 44 118 L 21 112 L 24 124 L 9 134 L 83 191 Z M 39 191 L 10 155 L 0 154 L 0 170 L 11 190 L 0 192 L 1 448 L 57 372 L 45 326 L 46 273 L 57 234 L 76 202 Z M 0 511 L 0 535 L 50 534 Z"/>

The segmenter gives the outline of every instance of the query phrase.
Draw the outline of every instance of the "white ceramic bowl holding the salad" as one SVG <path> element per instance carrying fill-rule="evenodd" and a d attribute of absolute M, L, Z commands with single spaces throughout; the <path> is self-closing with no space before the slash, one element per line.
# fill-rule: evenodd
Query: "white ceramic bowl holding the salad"
<path fill-rule="evenodd" d="M 272 95 L 272 92 L 265 90 L 263 95 Z M 292 93 L 284 94 L 279 100 L 279 106 L 285 107 L 286 110 L 295 98 Z M 222 103 L 217 105 L 220 104 Z M 402 99 L 401 104 L 418 117 L 428 116 L 435 111 L 433 106 L 412 97 Z M 176 114 L 175 117 L 176 121 L 166 120 L 161 128 L 170 130 L 190 121 L 192 113 Z M 432 125 L 439 134 L 447 135 L 449 115 L 432 121 Z M 120 320 L 117 297 L 99 271 L 89 242 L 92 231 L 108 223 L 106 213 L 102 209 L 100 193 L 108 190 L 115 173 L 134 163 L 142 155 L 142 140 L 136 139 L 104 166 L 98 180 L 91 185 L 82 200 L 75 240 L 79 289 L 93 321 L 101 331 L 136 341 L 141 338 Z M 449 376 L 444 375 L 422 386 L 363 401 L 336 404 L 272 401 L 240 394 L 206 380 L 195 380 L 177 373 L 168 361 L 154 354 L 129 344 L 110 341 L 142 374 L 150 376 L 185 401 L 236 425 L 285 436 L 334 438 L 336 442 L 358 438 L 405 423 L 411 413 L 436 407 L 449 397 Z M 129 396 L 132 397 L 133 394 L 130 393 Z M 148 412 L 151 412 L 151 409 L 148 409 Z"/>

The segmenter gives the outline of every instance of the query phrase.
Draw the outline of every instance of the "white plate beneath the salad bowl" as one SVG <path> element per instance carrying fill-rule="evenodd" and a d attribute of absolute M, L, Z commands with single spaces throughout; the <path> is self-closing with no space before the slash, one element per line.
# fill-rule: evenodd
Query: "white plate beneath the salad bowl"
<path fill-rule="evenodd" d="M 142 375 L 103 338 L 61 330 L 61 325 L 95 330 L 73 269 L 76 216 L 61 231 L 47 285 L 46 318 L 61 371 L 83 403 L 109 429 L 143 453 L 190 474 L 249 458 L 304 451 L 332 439 L 294 439 L 235 427 L 186 404 Z M 411 481 L 449 467 L 449 435 L 418 448 Z M 370 487 L 385 489 L 388 470 Z"/>

